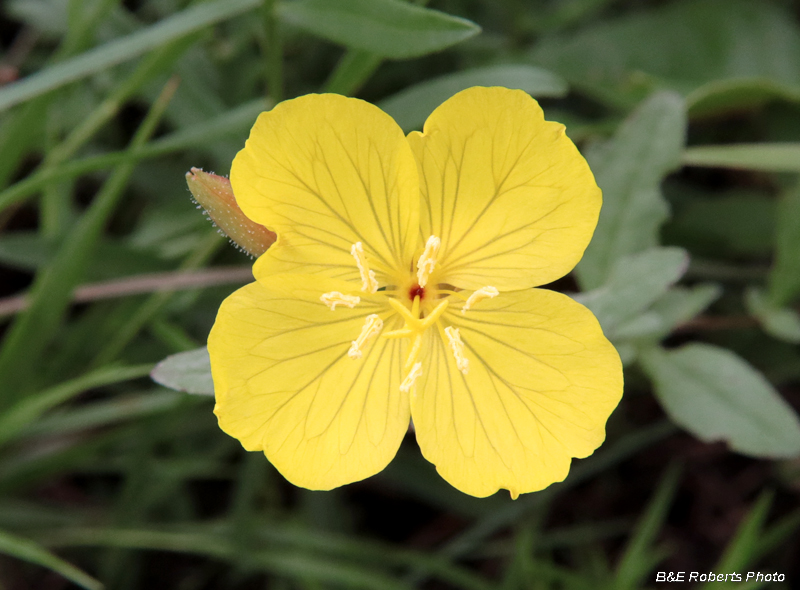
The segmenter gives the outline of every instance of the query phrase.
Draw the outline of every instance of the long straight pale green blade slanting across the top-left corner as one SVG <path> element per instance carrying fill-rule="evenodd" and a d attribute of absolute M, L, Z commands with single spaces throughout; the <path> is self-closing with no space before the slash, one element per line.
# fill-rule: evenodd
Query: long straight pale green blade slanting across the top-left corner
<path fill-rule="evenodd" d="M 174 39 L 246 12 L 261 0 L 216 0 L 187 8 L 145 29 L 95 47 L 0 89 L 0 111 L 102 72 Z"/>

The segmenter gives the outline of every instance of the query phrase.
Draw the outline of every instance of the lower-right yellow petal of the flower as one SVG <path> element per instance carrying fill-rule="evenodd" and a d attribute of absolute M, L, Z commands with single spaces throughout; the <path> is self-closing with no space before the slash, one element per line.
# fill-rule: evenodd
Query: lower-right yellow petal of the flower
<path fill-rule="evenodd" d="M 453 486 L 479 497 L 541 490 L 603 442 L 622 365 L 588 309 L 532 289 L 448 310 L 443 323 L 458 328 L 469 372 L 431 335 L 411 414 L 423 455 Z"/>

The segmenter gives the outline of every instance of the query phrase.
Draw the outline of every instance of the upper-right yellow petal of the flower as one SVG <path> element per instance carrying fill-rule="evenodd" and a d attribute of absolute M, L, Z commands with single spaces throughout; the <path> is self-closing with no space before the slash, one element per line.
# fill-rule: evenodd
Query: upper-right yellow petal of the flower
<path fill-rule="evenodd" d="M 408 139 L 422 235 L 442 240 L 444 282 L 523 289 L 565 275 L 583 256 L 600 189 L 564 126 L 545 121 L 530 96 L 469 88 Z"/>

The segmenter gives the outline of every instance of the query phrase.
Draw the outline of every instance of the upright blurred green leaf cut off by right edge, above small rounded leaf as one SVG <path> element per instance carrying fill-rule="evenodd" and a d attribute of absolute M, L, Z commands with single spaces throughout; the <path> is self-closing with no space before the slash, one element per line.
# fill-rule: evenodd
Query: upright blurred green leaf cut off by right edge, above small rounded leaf
<path fill-rule="evenodd" d="M 781 307 L 800 294 L 800 184 L 781 197 L 777 223 L 769 298 Z"/>

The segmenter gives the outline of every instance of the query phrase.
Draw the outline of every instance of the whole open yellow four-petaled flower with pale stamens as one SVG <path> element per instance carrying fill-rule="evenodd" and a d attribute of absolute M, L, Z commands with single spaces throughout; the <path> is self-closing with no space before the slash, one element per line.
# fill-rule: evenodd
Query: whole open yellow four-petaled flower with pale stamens
<path fill-rule="evenodd" d="M 474 496 L 561 481 L 622 393 L 619 357 L 566 295 L 601 194 L 527 94 L 471 88 L 407 138 L 337 95 L 279 104 L 233 162 L 277 242 L 209 336 L 220 427 L 291 482 L 382 470 L 413 420 Z"/>

